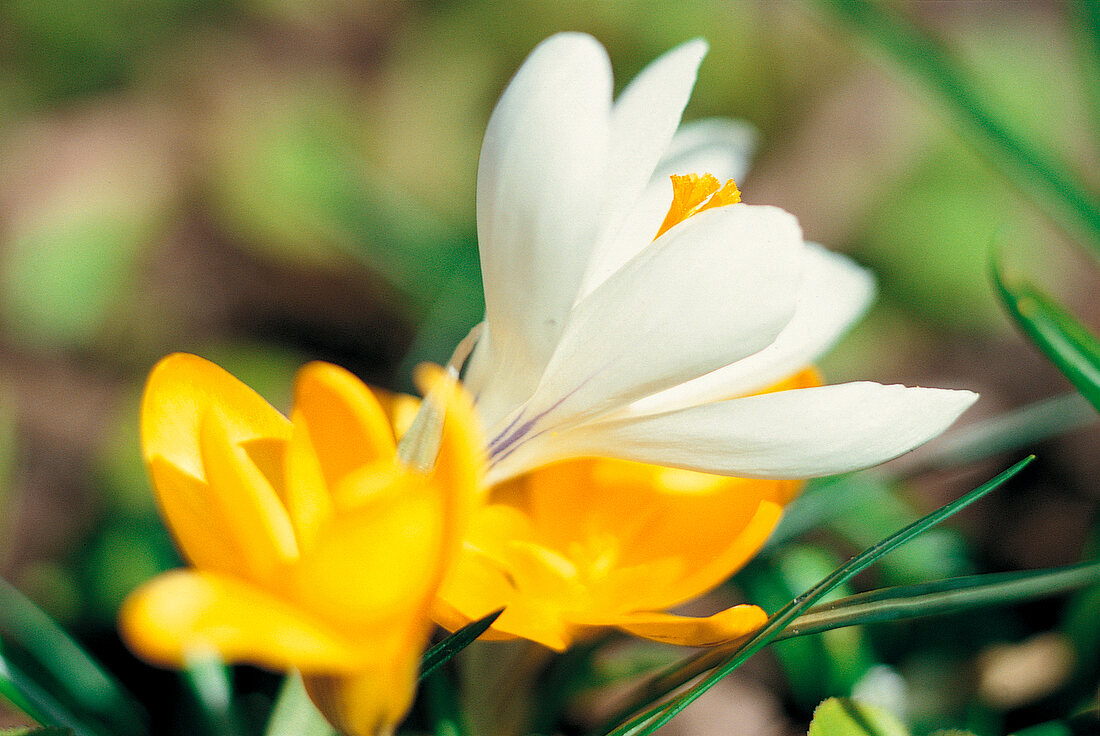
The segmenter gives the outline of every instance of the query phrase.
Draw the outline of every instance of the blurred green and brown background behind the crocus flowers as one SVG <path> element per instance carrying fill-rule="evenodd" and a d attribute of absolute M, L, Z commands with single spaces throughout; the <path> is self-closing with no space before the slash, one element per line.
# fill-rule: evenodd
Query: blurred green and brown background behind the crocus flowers
<path fill-rule="evenodd" d="M 1035 147 L 1100 189 L 1098 70 L 1070 7 L 892 7 Z M 173 715 L 185 695 L 113 633 L 122 597 L 177 563 L 136 448 L 145 374 L 167 352 L 197 352 L 286 408 L 308 360 L 402 389 L 413 364 L 446 360 L 482 309 L 484 125 L 526 54 L 561 30 L 596 35 L 619 86 L 671 46 L 710 41 L 686 118 L 757 127 L 745 200 L 790 210 L 807 239 L 879 275 L 877 306 L 824 363 L 832 381 L 972 388 L 971 424 L 1068 389 L 1002 316 L 990 251 L 1092 325 L 1100 276 L 1021 193 L 1026 182 L 991 168 L 938 100 L 817 3 L 7 0 L 2 569 L 135 683 L 157 733 L 187 733 Z M 868 582 L 1080 559 L 1100 499 L 1098 440 L 1093 427 L 1028 446 L 1041 459 L 1025 479 Z M 908 462 L 894 471 L 904 484 L 876 481 L 849 514 L 774 548 L 743 590 L 774 609 L 791 594 L 781 584 L 798 592 L 1004 464 L 912 476 Z M 722 733 L 798 733 L 821 697 L 893 692 L 901 677 L 921 727 L 1049 719 L 1094 690 L 1097 598 L 790 642 L 670 728 L 700 733 L 711 717 L 745 724 Z M 1005 646 L 1037 647 L 1050 682 L 990 690 Z M 273 685 L 240 677 L 262 712 Z"/>

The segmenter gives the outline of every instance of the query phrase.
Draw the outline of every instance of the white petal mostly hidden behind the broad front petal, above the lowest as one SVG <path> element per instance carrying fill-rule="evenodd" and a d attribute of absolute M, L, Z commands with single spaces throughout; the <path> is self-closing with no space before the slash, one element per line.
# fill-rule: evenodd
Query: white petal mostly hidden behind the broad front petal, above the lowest
<path fill-rule="evenodd" d="M 873 297 L 875 277 L 869 271 L 806 243 L 799 305 L 773 343 L 732 365 L 647 396 L 628 410 L 657 414 L 763 391 L 823 355 L 862 316 Z"/>

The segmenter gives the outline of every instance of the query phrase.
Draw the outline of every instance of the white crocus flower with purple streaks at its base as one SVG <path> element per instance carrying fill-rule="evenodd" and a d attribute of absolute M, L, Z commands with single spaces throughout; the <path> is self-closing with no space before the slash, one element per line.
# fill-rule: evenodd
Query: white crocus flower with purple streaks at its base
<path fill-rule="evenodd" d="M 869 382 L 760 393 L 832 345 L 873 283 L 774 207 L 713 207 L 654 240 L 670 173 L 747 166 L 745 129 L 679 128 L 705 52 L 674 48 L 613 103 L 604 48 L 556 35 L 493 112 L 477 175 L 486 319 L 466 374 L 491 482 L 580 455 L 838 473 L 927 441 L 977 398 Z"/>

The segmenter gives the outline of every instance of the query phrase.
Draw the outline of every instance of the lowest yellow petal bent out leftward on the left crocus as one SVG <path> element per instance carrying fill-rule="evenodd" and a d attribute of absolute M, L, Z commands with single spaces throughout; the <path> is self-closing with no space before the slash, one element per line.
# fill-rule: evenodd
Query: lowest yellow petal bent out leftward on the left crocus
<path fill-rule="evenodd" d="M 340 672 L 362 667 L 367 655 L 283 600 L 210 572 L 155 578 L 123 603 L 119 628 L 131 649 L 165 667 L 216 651 L 230 662 Z"/>

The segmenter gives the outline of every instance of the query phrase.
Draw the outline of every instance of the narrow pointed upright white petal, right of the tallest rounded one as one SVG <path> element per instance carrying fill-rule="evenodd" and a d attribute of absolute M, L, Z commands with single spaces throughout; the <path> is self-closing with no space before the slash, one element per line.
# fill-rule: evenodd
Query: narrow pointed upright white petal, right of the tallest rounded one
<path fill-rule="evenodd" d="M 593 250 L 581 296 L 603 283 L 657 233 L 654 228 L 632 242 L 616 237 L 676 133 L 705 54 L 706 43 L 700 40 L 673 48 L 642 69 L 615 101 L 608 168 L 614 194 L 606 202 L 601 244 Z"/>

